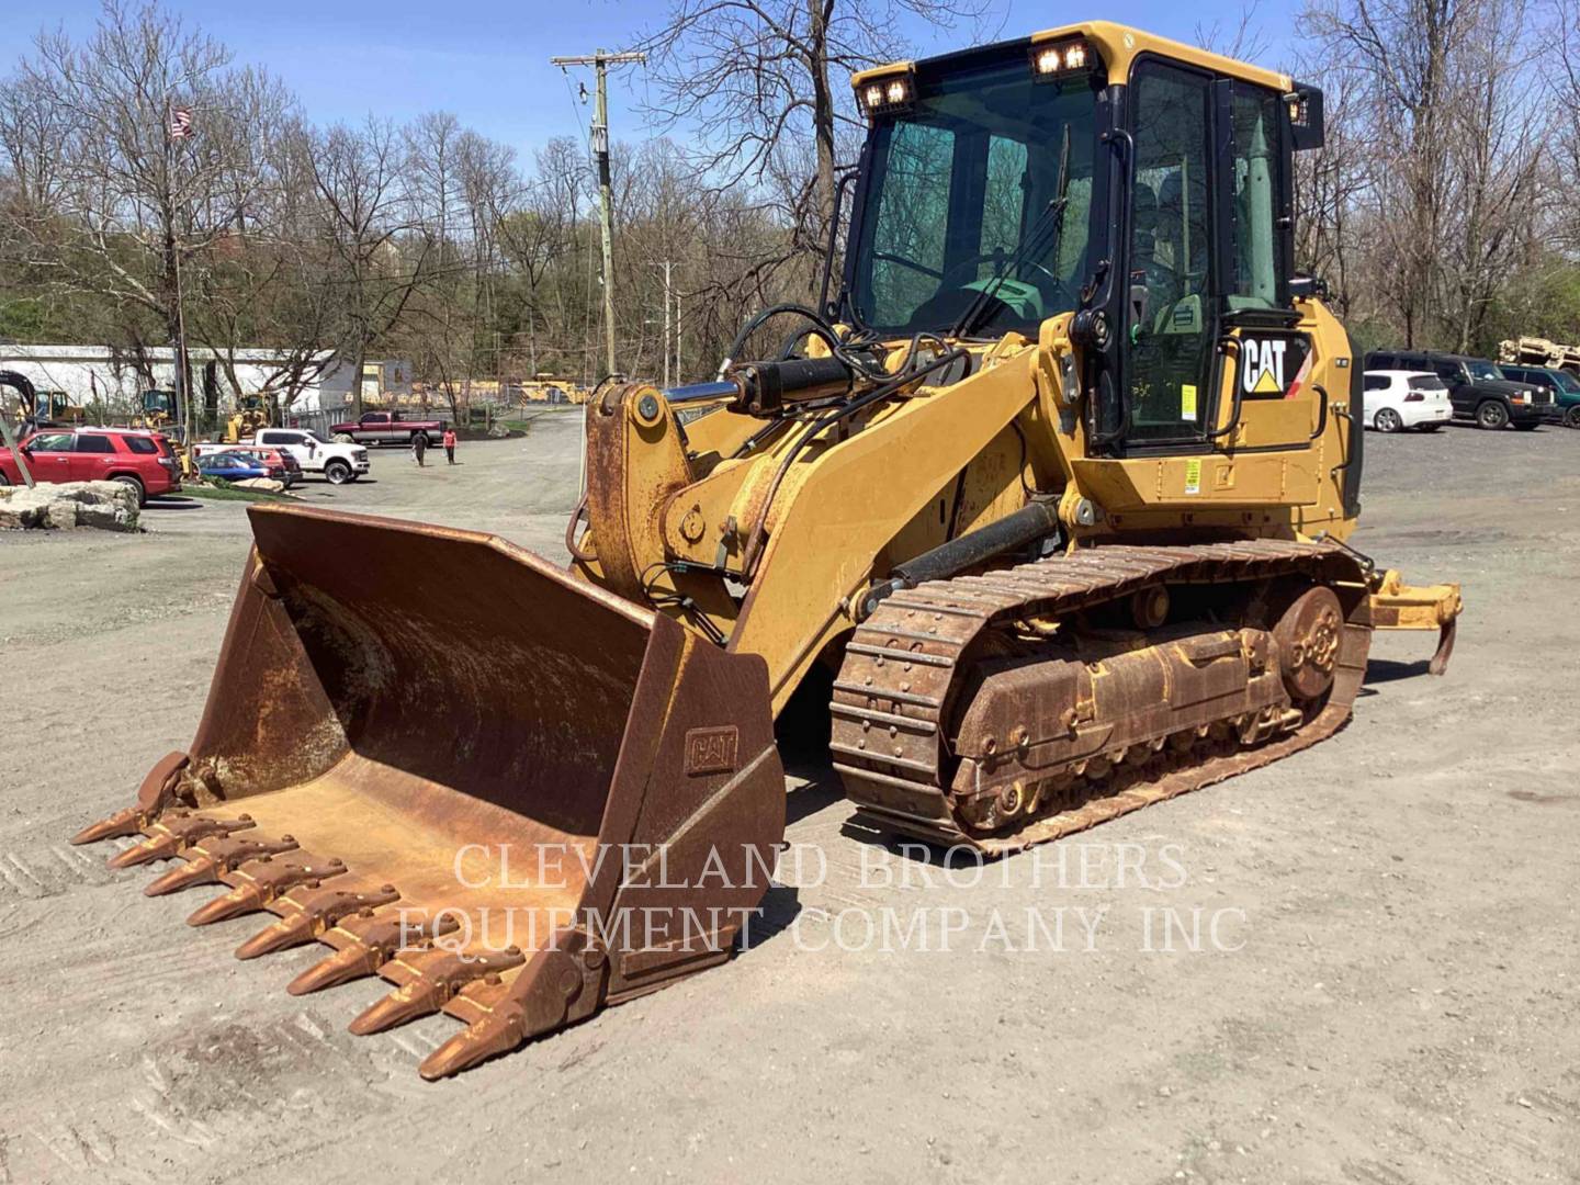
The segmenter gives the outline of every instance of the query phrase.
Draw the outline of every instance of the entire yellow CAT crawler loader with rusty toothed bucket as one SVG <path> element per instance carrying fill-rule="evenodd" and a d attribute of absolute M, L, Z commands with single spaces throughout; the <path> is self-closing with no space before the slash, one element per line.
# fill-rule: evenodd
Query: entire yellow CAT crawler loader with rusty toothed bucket
<path fill-rule="evenodd" d="M 1360 356 L 1292 265 L 1318 88 L 1097 21 L 855 92 L 837 289 L 716 382 L 596 392 L 569 570 L 250 507 L 194 741 L 74 841 L 270 915 L 240 957 L 330 948 L 291 992 L 393 984 L 352 1032 L 460 1019 L 439 1078 L 728 957 L 776 724 L 858 822 L 997 856 L 1332 736 L 1373 629 L 1443 672 L 1458 588 L 1348 542 Z"/>

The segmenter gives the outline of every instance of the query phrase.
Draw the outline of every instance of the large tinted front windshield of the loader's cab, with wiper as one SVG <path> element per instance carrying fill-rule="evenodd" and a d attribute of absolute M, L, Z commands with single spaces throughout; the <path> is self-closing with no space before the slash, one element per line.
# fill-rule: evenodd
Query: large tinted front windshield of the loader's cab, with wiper
<path fill-rule="evenodd" d="M 872 130 L 856 215 L 852 311 L 882 333 L 978 333 L 1076 307 L 1087 270 L 1095 98 L 1085 76 L 1038 82 L 1024 54 L 916 79 Z M 1068 137 L 1065 209 L 1055 216 Z M 1024 254 L 1019 254 L 1024 248 Z"/>

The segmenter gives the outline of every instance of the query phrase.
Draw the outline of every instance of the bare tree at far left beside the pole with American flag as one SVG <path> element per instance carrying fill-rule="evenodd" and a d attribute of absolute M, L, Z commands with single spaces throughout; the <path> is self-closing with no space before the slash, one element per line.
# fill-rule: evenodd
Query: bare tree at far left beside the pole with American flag
<path fill-rule="evenodd" d="M 246 228 L 267 183 L 262 149 L 291 96 L 262 71 L 232 68 L 228 49 L 180 19 L 122 0 L 106 0 L 82 44 L 41 35 L 11 93 L 24 111 L 38 111 L 43 96 L 47 123 L 8 120 L 8 141 L 43 133 L 60 145 L 28 174 L 54 216 L 28 213 L 6 228 L 27 267 L 46 286 L 141 310 L 177 340 L 177 275 Z M 183 139 L 169 134 L 177 106 L 193 120 Z M 11 153 L 25 158 L 21 144 Z M 190 367 L 177 365 L 190 390 Z"/>

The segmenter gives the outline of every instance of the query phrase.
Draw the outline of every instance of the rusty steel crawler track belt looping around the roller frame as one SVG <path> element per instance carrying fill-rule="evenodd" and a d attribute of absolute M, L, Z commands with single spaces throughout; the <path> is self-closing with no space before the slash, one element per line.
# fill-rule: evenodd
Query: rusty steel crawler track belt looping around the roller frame
<path fill-rule="evenodd" d="M 1103 779 L 1076 779 L 1073 795 L 1052 796 L 1041 814 L 1010 831 L 983 834 L 959 817 L 948 790 L 956 760 L 945 732 L 973 643 L 1016 621 L 1065 618 L 1149 585 L 1234 585 L 1291 575 L 1351 591 L 1332 689 L 1299 728 L 1253 746 L 1209 733 L 1187 749 L 1163 749 Z M 1016 852 L 1256 769 L 1330 736 L 1349 719 L 1370 643 L 1365 577 L 1334 544 L 1258 539 L 1100 547 L 931 581 L 886 599 L 847 645 L 830 705 L 834 768 L 861 822 L 989 855 Z"/>

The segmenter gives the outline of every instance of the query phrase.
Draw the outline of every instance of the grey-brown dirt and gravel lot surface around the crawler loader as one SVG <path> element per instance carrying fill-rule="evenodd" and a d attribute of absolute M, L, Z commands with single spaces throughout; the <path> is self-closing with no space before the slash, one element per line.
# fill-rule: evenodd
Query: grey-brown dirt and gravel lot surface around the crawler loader
<path fill-rule="evenodd" d="M 561 558 L 575 446 L 307 501 Z M 294 999 L 322 948 L 65 842 L 190 741 L 242 506 L 0 539 L 0 1182 L 1580 1182 L 1580 433 L 1370 434 L 1365 490 L 1357 547 L 1465 585 L 1447 678 L 1379 635 L 1335 739 L 984 872 L 812 765 L 750 950 L 433 1085 L 453 1021 L 352 1036 L 384 984 Z"/>

